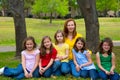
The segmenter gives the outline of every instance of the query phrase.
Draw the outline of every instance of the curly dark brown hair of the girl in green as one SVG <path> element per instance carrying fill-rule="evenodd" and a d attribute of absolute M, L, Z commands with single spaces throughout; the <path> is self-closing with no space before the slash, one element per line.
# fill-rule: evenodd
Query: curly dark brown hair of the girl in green
<path fill-rule="evenodd" d="M 110 50 L 108 51 L 108 55 L 110 55 L 112 53 L 113 42 L 109 37 L 106 37 L 101 41 L 101 43 L 99 45 L 99 52 L 102 53 L 102 54 L 104 53 L 104 50 L 102 48 L 104 42 L 107 42 L 110 46 Z"/>

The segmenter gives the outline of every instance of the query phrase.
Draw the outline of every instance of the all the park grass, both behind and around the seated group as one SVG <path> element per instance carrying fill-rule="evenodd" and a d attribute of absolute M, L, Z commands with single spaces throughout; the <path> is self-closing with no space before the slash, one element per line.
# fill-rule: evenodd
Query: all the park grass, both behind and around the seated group
<path fill-rule="evenodd" d="M 85 24 L 83 19 L 76 19 L 77 31 L 85 37 Z M 54 33 L 58 29 L 63 29 L 65 20 L 53 20 L 49 24 L 49 20 L 26 18 L 26 28 L 28 36 L 33 36 L 36 42 L 40 44 L 43 36 L 50 36 L 53 39 Z M 120 18 L 99 18 L 100 24 L 100 39 L 104 37 L 111 37 L 112 40 L 120 40 Z M 0 46 L 15 46 L 15 29 L 13 18 L 0 17 Z M 116 54 L 116 70 L 120 73 L 120 47 L 115 47 Z M 0 52 L 0 67 L 9 66 L 16 67 L 20 60 L 14 58 L 15 52 Z M 93 61 L 95 61 L 95 54 L 92 54 Z M 11 80 L 4 76 L 0 76 L 1 80 Z M 82 78 L 74 78 L 72 76 L 60 76 L 57 78 L 39 78 L 29 80 L 84 80 Z M 90 79 L 88 79 L 90 80 Z"/>

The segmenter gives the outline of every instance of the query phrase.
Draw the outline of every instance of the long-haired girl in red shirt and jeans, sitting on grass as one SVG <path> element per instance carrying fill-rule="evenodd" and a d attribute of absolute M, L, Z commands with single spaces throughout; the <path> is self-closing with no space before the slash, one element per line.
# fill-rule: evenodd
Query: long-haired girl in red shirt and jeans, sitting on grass
<path fill-rule="evenodd" d="M 39 73 L 43 77 L 51 77 L 53 62 L 56 58 L 57 51 L 53 47 L 51 38 L 44 36 L 40 46 L 40 62 L 39 62 Z"/>

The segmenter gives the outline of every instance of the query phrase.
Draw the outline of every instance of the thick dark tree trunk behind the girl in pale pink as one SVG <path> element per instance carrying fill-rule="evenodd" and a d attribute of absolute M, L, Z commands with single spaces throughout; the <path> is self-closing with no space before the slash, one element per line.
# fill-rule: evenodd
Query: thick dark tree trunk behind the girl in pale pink
<path fill-rule="evenodd" d="M 16 40 L 16 57 L 20 56 L 22 42 L 27 37 L 24 17 L 24 0 L 9 0 L 10 10 L 13 13 Z"/>

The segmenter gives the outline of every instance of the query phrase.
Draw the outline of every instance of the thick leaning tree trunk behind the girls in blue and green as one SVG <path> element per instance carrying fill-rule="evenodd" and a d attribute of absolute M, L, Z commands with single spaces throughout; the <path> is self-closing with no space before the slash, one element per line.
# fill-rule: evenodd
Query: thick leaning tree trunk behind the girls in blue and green
<path fill-rule="evenodd" d="M 95 53 L 99 44 L 99 22 L 96 2 L 95 0 L 77 0 L 77 2 L 84 16 L 87 47 Z"/>

